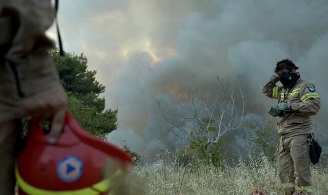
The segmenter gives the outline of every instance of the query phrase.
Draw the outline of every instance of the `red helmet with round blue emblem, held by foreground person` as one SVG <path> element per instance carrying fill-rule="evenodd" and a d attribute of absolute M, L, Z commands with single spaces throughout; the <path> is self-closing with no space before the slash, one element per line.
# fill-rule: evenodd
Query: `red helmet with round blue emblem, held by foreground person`
<path fill-rule="evenodd" d="M 68 112 L 57 143 L 48 144 L 47 136 L 40 121 L 32 119 L 15 167 L 19 194 L 105 194 L 110 189 L 104 177 L 108 160 L 118 161 L 115 174 L 133 165 L 130 155 L 87 133 Z"/>

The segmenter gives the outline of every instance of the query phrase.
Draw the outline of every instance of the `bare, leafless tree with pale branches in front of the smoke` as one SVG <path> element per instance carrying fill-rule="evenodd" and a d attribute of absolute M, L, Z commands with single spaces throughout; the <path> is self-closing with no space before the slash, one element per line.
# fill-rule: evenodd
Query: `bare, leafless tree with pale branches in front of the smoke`
<path fill-rule="evenodd" d="M 163 118 L 171 124 L 169 128 L 174 135 L 181 139 L 193 141 L 195 138 L 206 138 L 206 146 L 217 144 L 222 135 L 229 131 L 235 131 L 242 125 L 245 101 L 240 91 L 242 103 L 236 106 L 234 88 L 228 82 L 223 85 L 219 77 L 216 77 L 218 87 L 216 93 L 209 97 L 202 90 L 200 84 L 195 84 L 195 76 L 189 92 L 178 92 L 179 106 L 169 110 L 162 107 L 160 100 L 156 100 L 157 106 Z M 182 120 L 179 124 L 174 118 Z"/>

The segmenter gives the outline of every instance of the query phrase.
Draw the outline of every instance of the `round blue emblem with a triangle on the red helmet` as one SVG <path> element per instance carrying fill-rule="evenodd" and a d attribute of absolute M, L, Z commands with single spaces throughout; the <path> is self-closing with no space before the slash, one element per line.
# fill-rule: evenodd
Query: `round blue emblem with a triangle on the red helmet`
<path fill-rule="evenodd" d="M 57 165 L 57 174 L 64 182 L 74 182 L 82 174 L 83 164 L 74 156 L 61 159 Z"/>

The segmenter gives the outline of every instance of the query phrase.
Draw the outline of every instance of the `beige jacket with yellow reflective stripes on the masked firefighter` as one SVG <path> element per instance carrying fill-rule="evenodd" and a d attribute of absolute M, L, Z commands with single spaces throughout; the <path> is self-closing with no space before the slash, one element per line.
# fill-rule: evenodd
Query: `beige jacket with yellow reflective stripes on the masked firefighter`
<path fill-rule="evenodd" d="M 261 90 L 264 95 L 277 99 L 279 102 L 292 103 L 291 111 L 286 118 L 278 117 L 277 131 L 288 138 L 299 134 L 312 133 L 311 115 L 320 109 L 320 97 L 312 83 L 299 79 L 292 89 L 284 89 L 276 85 L 279 78 L 273 75 Z"/>

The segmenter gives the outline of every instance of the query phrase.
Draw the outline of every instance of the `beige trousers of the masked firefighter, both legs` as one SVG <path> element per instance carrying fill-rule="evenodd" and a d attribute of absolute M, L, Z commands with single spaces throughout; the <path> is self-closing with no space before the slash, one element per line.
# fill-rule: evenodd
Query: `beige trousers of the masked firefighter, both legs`
<path fill-rule="evenodd" d="M 311 194 L 310 145 L 308 135 L 281 138 L 278 175 L 283 194 Z"/>

